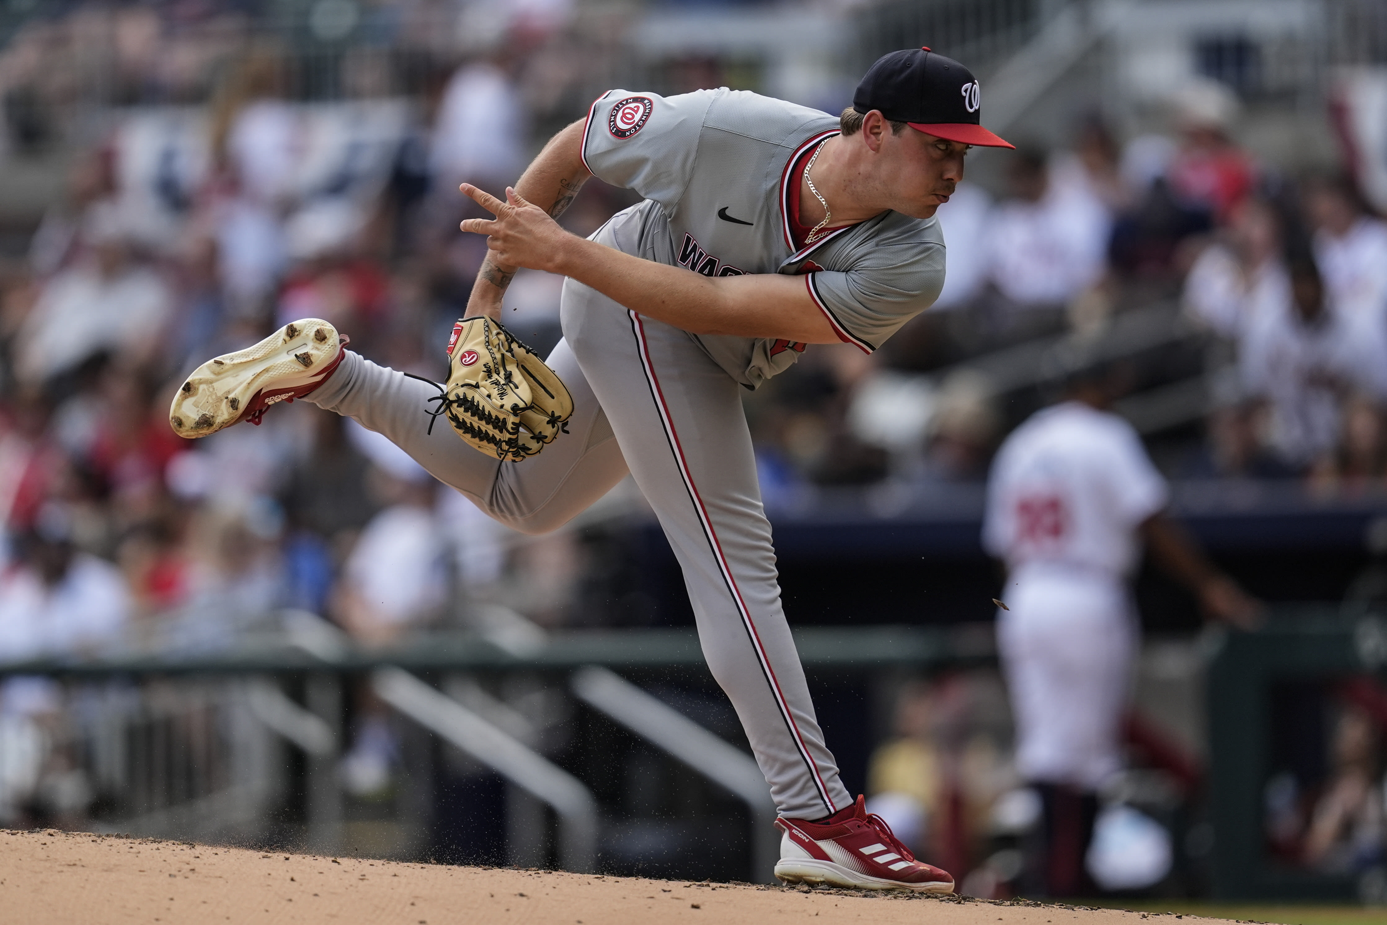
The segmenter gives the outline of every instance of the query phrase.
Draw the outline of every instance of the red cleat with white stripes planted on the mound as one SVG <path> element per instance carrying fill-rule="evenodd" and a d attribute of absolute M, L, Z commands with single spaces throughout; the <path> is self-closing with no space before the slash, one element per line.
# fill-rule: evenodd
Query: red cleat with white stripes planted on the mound
<path fill-rule="evenodd" d="M 782 817 L 775 828 L 784 832 L 775 876 L 785 883 L 953 893 L 953 876 L 917 861 L 861 796 L 824 822 Z"/>

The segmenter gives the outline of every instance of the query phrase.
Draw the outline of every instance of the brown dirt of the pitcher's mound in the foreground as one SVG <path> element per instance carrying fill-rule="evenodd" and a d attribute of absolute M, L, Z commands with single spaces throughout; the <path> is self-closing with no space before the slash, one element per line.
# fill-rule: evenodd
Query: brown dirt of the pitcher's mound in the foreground
<path fill-rule="evenodd" d="M 268 854 L 186 842 L 0 829 L 0 919 L 444 925 L 1158 925 L 1143 913 L 957 897 L 689 883 L 555 871 Z M 1191 917 L 1186 917 L 1193 922 Z M 1150 914 L 1160 925 L 1173 915 Z M 1205 919 L 1209 921 L 1209 919 Z M 1182 922 L 1180 925 L 1186 925 Z"/>

